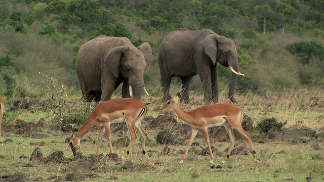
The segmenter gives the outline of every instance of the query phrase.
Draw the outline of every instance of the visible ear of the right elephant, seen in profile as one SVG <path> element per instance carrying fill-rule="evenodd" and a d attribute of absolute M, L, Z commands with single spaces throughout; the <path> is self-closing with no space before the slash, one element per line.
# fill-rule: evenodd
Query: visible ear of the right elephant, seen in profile
<path fill-rule="evenodd" d="M 214 65 L 217 60 L 217 43 L 220 35 L 218 34 L 209 34 L 204 40 L 204 50 L 205 53 L 212 59 Z"/>

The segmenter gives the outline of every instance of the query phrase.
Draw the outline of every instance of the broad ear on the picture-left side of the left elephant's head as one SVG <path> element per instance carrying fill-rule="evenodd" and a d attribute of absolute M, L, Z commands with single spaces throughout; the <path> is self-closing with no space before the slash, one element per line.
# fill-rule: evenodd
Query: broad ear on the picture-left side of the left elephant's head
<path fill-rule="evenodd" d="M 118 78 L 119 67 L 120 67 L 120 58 L 130 49 L 129 46 L 123 45 L 115 47 L 109 51 L 108 55 L 105 58 L 104 63 L 108 66 L 112 74 Z"/>

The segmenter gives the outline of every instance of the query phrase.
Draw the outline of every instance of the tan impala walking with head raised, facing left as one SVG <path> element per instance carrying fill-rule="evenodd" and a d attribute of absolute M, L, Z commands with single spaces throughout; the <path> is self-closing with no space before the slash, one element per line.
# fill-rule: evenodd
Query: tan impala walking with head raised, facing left
<path fill-rule="evenodd" d="M 166 104 L 162 107 L 161 110 L 175 111 L 182 120 L 189 123 L 189 125 L 192 127 L 192 133 L 189 139 L 189 144 L 187 146 L 187 149 L 180 163 L 182 163 L 183 160 L 186 158 L 188 150 L 190 149 L 192 141 L 194 140 L 198 130 L 200 130 L 204 134 L 206 143 L 208 145 L 209 153 L 211 155 L 210 163 L 213 163 L 214 155 L 209 142 L 209 136 L 207 130 L 208 127 L 213 127 L 213 126 L 225 126 L 226 131 L 230 138 L 230 146 L 228 148 L 228 151 L 222 163 L 224 163 L 229 158 L 229 154 L 235 144 L 235 136 L 232 128 L 234 128 L 241 135 L 243 135 L 244 138 L 248 141 L 251 152 L 255 157 L 255 151 L 253 150 L 250 134 L 248 134 L 241 126 L 242 117 L 243 117 L 243 113 L 241 109 L 239 109 L 238 107 L 232 104 L 227 103 L 227 104 L 215 104 L 210 106 L 202 106 L 196 108 L 195 110 L 187 112 L 181 108 L 181 106 L 177 102 L 177 99 L 178 98 L 170 97 L 170 100 L 166 102 Z"/>

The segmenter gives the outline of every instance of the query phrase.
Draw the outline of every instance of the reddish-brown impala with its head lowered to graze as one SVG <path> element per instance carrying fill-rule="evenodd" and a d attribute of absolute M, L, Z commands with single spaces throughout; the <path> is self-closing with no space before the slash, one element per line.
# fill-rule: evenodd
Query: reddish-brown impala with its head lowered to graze
<path fill-rule="evenodd" d="M 93 127 L 100 127 L 96 155 L 99 155 L 104 128 L 106 128 L 107 132 L 110 153 L 113 153 L 110 124 L 126 122 L 131 134 L 131 141 L 127 148 L 127 151 L 123 155 L 123 159 L 125 159 L 127 155 L 129 155 L 132 144 L 137 138 L 135 128 L 143 136 L 142 156 L 144 156 L 146 132 L 141 125 L 141 121 L 145 117 L 146 112 L 146 106 L 141 101 L 133 98 L 113 99 L 98 104 L 98 106 L 92 111 L 86 122 L 82 126 L 80 126 L 77 131 L 74 131 L 68 139 L 68 143 L 71 147 L 73 155 L 75 156 L 78 153 L 80 140 L 82 139 L 82 137 Z"/>

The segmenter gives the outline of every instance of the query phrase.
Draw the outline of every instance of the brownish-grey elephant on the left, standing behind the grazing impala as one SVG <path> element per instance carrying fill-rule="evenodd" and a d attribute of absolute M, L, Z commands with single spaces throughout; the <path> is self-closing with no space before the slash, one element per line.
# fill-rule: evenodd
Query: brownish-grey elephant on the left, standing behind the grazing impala
<path fill-rule="evenodd" d="M 123 83 L 122 97 L 140 100 L 144 70 L 152 60 L 147 42 L 134 47 L 127 37 L 99 35 L 84 43 L 77 54 L 76 73 L 82 94 L 91 101 L 107 101 Z M 147 92 L 146 92 L 147 93 Z"/>

